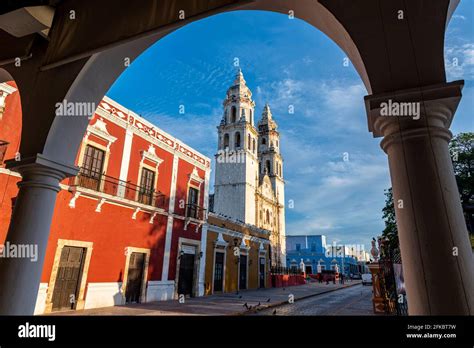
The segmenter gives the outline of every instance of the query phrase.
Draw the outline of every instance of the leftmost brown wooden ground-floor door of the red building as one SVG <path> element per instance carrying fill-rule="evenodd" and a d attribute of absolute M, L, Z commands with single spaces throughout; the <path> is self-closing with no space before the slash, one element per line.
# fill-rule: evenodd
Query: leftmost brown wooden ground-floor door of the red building
<path fill-rule="evenodd" d="M 53 291 L 53 311 L 76 308 L 85 248 L 63 247 Z"/>

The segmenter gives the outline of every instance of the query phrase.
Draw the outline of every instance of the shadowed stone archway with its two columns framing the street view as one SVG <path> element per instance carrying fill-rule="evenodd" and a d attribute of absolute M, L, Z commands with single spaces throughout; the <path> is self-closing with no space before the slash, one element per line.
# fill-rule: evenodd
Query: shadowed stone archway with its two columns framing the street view
<path fill-rule="evenodd" d="M 203 5 L 149 0 L 136 6 L 105 0 L 91 6 L 71 0 L 54 9 L 48 42 L 38 40 L 35 32 L 20 37 L 0 32 L 4 47 L 12 47 L 3 54 L 30 57 L 21 69 L 15 59 L 0 57 L 25 95 L 20 148 L 24 159 L 9 163 L 23 180 L 7 240 L 38 244 L 41 260 L 35 265 L 0 260 L 0 283 L 10 284 L 0 288 L 0 312 L 33 313 L 58 184 L 76 173 L 74 160 L 88 118 L 55 117 L 55 104 L 67 100 L 97 105 L 125 69 L 124 59 L 133 60 L 192 21 L 242 9 L 305 20 L 351 59 L 369 93 L 369 130 L 384 137 L 394 197 L 405 202 L 403 210 L 397 210 L 397 224 L 410 313 L 472 314 L 474 266 L 447 148 L 462 82 L 446 83 L 442 50 L 446 25 L 458 2 L 219 0 Z M 21 9 L 1 12 L 0 27 L 5 27 L 2 19 L 19 16 L 14 29 L 21 29 L 24 13 L 15 10 Z M 114 21 L 94 35 L 94 24 L 104 15 Z M 419 103 L 421 117 L 382 117 L 381 104 L 387 101 Z M 449 304 L 447 296 L 453 299 Z"/>

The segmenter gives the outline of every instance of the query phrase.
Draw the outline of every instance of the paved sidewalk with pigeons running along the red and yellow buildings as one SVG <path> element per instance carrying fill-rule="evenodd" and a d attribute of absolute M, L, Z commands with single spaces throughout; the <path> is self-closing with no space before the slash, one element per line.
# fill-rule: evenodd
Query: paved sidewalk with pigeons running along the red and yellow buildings
<path fill-rule="evenodd" d="M 344 285 L 309 283 L 287 288 L 244 290 L 239 294 L 232 293 L 187 298 L 185 303 L 179 303 L 177 300 L 159 301 L 56 312 L 50 315 L 244 315 L 255 310 L 288 303 L 290 295 L 293 295 L 294 300 L 298 301 L 360 283 L 359 280 L 347 282 Z"/>

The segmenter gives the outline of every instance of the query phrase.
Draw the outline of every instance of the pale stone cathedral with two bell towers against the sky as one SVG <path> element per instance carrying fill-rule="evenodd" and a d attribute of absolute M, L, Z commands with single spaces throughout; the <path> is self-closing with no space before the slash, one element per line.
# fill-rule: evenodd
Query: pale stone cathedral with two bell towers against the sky
<path fill-rule="evenodd" d="M 273 266 L 285 266 L 285 182 L 270 106 L 255 126 L 255 102 L 239 70 L 218 129 L 214 212 L 271 232 Z"/>

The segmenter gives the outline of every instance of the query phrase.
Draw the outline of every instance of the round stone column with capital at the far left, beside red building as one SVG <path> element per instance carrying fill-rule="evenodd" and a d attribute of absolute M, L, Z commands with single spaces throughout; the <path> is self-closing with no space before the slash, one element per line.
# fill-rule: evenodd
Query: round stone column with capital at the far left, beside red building
<path fill-rule="evenodd" d="M 0 314 L 33 315 L 59 182 L 77 170 L 40 154 L 8 165 L 22 180 L 5 245 L 30 246 L 37 259 L 0 258 Z"/>

